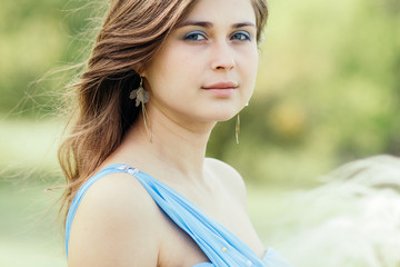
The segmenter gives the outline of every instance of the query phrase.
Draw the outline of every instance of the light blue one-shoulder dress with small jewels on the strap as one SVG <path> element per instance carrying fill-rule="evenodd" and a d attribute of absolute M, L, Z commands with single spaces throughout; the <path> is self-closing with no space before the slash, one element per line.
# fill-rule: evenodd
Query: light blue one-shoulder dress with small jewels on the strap
<path fill-rule="evenodd" d="M 210 263 L 197 264 L 193 267 L 291 267 L 278 251 L 268 248 L 260 259 L 244 243 L 226 227 L 206 215 L 182 195 L 156 178 L 128 165 L 112 165 L 87 180 L 74 196 L 66 221 L 66 251 L 73 217 L 86 191 L 106 175 L 126 172 L 136 177 L 154 199 L 157 205 L 183 229 L 201 248 Z"/>

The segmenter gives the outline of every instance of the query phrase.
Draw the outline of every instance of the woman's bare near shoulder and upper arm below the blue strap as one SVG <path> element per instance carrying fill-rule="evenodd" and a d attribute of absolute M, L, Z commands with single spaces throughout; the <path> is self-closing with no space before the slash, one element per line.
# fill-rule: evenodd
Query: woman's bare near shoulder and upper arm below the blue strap
<path fill-rule="evenodd" d="M 134 177 L 102 177 L 88 189 L 74 216 L 68 266 L 157 266 L 159 216 Z"/>

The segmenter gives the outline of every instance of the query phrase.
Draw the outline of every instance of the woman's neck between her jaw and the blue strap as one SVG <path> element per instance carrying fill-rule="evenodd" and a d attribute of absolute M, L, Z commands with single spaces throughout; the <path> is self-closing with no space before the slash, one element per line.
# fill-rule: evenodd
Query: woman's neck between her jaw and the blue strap
<path fill-rule="evenodd" d="M 202 179 L 207 142 L 214 125 L 172 119 L 159 110 L 150 110 L 148 129 L 140 115 L 121 150 L 132 157 L 132 164 L 157 166 L 186 179 Z M 151 141 L 148 131 L 151 131 Z"/>

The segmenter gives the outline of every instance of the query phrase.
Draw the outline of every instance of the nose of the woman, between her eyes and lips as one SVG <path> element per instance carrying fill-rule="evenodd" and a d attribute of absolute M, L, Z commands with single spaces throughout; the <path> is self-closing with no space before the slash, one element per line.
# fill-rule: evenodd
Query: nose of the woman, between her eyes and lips
<path fill-rule="evenodd" d="M 214 43 L 212 48 L 211 68 L 213 70 L 231 70 L 236 68 L 234 55 L 229 43 Z"/>

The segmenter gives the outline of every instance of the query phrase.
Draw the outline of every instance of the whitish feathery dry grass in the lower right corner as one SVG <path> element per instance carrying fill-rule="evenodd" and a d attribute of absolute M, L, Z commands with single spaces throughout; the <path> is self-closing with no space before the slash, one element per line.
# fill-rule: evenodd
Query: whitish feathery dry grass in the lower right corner
<path fill-rule="evenodd" d="M 400 266 L 400 159 L 377 156 L 286 199 L 270 241 L 298 267 Z"/>

